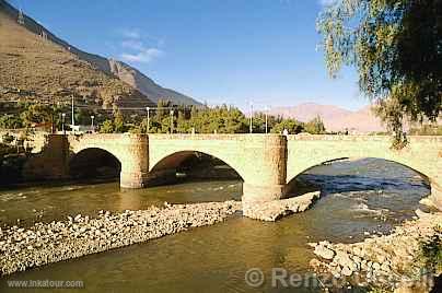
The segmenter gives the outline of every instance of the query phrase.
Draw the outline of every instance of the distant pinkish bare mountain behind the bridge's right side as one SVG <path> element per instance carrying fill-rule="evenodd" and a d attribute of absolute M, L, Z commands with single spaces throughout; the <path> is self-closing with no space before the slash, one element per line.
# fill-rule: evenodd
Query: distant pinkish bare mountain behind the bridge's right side
<path fill-rule="evenodd" d="M 321 116 L 328 131 L 341 131 L 346 129 L 361 133 L 385 131 L 385 127 L 381 120 L 371 112 L 371 106 L 352 112 L 333 105 L 304 103 L 294 107 L 272 108 L 270 114 L 281 115 L 286 118 L 295 118 L 303 122 Z"/>

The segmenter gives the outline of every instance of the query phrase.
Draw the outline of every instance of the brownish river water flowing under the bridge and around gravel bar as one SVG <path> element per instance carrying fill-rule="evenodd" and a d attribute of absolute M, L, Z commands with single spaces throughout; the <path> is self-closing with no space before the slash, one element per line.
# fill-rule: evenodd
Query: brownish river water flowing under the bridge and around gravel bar
<path fill-rule="evenodd" d="M 0 279 L 0 292 L 10 280 L 81 280 L 82 290 L 60 292 L 315 292 L 309 283 L 309 242 L 357 242 L 368 233 L 388 233 L 414 215 L 429 194 L 424 180 L 402 165 L 383 160 L 342 161 L 322 165 L 300 176 L 298 190 L 319 186 L 323 198 L 313 209 L 265 223 L 233 215 L 212 226 L 193 228 L 126 248 L 58 262 Z M 34 221 L 66 219 L 100 210 L 146 209 L 152 204 L 240 200 L 241 183 L 183 183 L 121 191 L 117 183 L 27 187 L 0 191 L 1 225 L 31 225 Z M 245 282 L 257 268 L 265 282 L 258 289 Z M 298 288 L 271 283 L 275 268 L 302 276 Z M 284 279 L 289 280 L 289 279 Z M 292 283 L 293 285 L 293 283 Z M 26 292 L 33 292 L 26 290 Z M 40 292 L 40 291 L 38 291 Z M 54 290 L 54 292 L 57 292 Z"/>

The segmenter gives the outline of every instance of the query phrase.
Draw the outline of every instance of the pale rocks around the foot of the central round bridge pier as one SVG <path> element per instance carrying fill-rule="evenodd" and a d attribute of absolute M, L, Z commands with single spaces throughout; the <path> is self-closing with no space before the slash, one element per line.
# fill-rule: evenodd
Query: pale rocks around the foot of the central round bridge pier
<path fill-rule="evenodd" d="M 256 220 L 275 222 L 286 215 L 310 209 L 319 195 L 321 191 L 314 191 L 289 199 L 243 202 L 243 214 Z"/>

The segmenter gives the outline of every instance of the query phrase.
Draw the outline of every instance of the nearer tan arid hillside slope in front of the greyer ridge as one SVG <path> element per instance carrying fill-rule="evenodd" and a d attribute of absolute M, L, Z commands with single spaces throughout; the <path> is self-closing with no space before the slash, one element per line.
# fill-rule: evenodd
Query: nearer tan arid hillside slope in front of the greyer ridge
<path fill-rule="evenodd" d="M 0 98 L 55 103 L 70 101 L 72 95 L 104 107 L 152 105 L 119 79 L 30 32 L 11 17 L 11 8 L 0 0 Z"/>

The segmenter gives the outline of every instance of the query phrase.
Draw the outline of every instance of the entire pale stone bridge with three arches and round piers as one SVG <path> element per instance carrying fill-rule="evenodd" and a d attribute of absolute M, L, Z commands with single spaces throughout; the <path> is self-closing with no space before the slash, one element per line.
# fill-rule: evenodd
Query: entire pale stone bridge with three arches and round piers
<path fill-rule="evenodd" d="M 120 185 L 147 187 L 167 176 L 194 152 L 216 156 L 243 179 L 243 201 L 283 198 L 302 172 L 341 157 L 377 157 L 408 166 L 426 176 L 432 199 L 442 208 L 442 137 L 409 137 L 409 145 L 393 151 L 384 136 L 278 134 L 50 134 L 28 175 L 69 176 L 72 157 L 90 149 L 113 154 L 121 165 Z M 38 173 L 38 174 L 35 174 Z"/>

